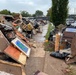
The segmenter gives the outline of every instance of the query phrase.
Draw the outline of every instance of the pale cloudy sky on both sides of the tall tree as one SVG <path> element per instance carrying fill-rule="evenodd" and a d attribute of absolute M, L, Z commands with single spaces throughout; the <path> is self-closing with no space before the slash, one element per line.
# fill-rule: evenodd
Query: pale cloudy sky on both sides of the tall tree
<path fill-rule="evenodd" d="M 76 0 L 69 0 L 69 12 L 74 13 Z M 51 0 L 0 0 L 0 10 L 8 9 L 11 12 L 28 11 L 33 14 L 36 10 L 41 10 L 44 14 L 51 7 Z"/>

